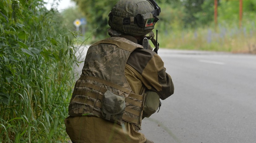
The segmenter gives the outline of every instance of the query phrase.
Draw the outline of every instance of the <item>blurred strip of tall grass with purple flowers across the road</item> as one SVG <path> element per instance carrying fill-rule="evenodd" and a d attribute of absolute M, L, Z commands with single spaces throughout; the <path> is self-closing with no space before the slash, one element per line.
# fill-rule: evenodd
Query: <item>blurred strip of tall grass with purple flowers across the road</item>
<path fill-rule="evenodd" d="M 219 25 L 216 29 L 206 27 L 158 34 L 160 48 L 256 53 L 256 29 L 253 22 L 242 28 Z"/>

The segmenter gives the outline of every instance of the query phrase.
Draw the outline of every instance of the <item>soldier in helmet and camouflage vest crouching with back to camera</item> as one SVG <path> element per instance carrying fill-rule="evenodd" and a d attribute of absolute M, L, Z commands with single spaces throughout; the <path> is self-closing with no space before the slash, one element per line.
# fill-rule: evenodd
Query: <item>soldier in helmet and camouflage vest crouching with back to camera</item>
<path fill-rule="evenodd" d="M 153 38 L 160 11 L 154 0 L 120 0 L 111 10 L 111 37 L 89 47 L 74 87 L 65 119 L 73 143 L 153 143 L 138 132 L 141 121 L 174 92 Z"/>

